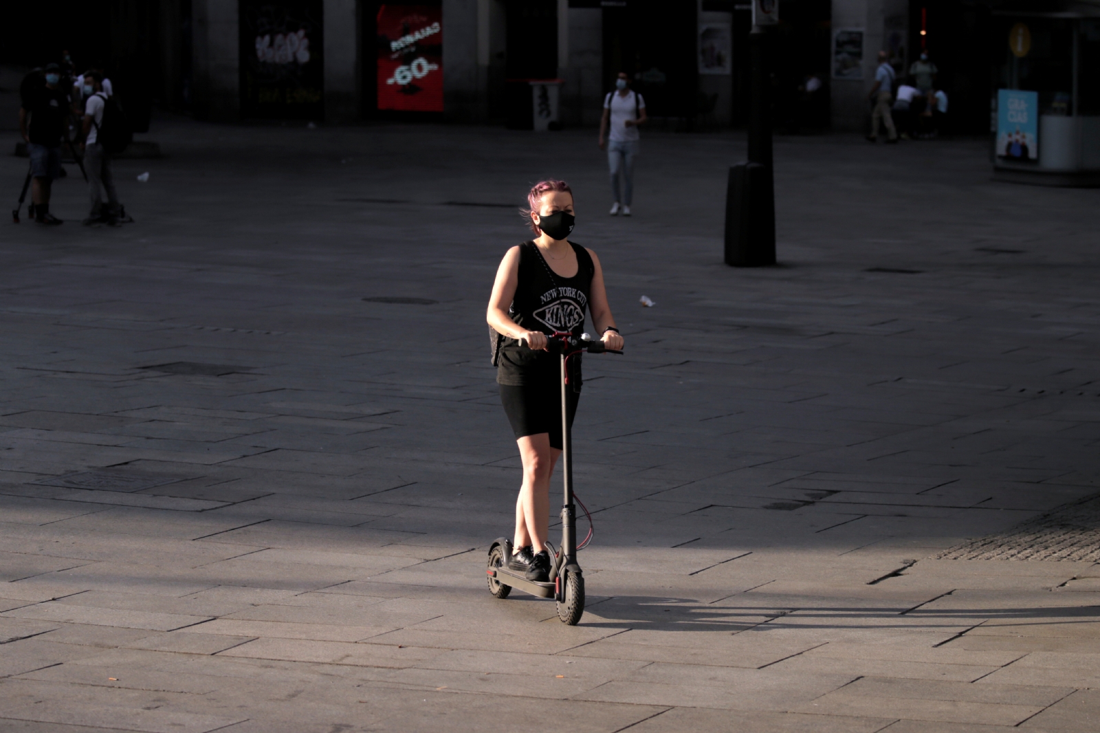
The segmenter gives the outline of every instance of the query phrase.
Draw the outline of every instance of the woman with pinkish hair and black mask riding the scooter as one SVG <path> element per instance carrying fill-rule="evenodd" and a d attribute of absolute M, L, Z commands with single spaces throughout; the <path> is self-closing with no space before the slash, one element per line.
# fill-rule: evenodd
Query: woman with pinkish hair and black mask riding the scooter
<path fill-rule="evenodd" d="M 608 349 L 622 350 L 604 288 L 600 258 L 570 242 L 573 193 L 564 180 L 542 180 L 521 211 L 534 240 L 513 247 L 497 269 L 485 319 L 494 336 L 493 363 L 501 403 L 512 424 L 524 483 L 516 501 L 516 534 L 508 567 L 528 580 L 546 581 L 550 556 L 546 540 L 550 517 L 550 475 L 561 456 L 561 375 L 547 336 L 568 331 L 580 337 L 584 311 Z M 581 392 L 581 355 L 570 357 L 566 413 L 570 425 Z"/>

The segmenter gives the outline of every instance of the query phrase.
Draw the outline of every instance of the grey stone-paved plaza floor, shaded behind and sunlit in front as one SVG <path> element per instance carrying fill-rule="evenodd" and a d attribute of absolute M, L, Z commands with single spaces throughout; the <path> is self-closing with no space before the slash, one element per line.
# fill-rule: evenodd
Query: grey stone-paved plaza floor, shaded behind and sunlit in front
<path fill-rule="evenodd" d="M 1100 192 L 780 138 L 781 265 L 734 270 L 744 136 L 647 134 L 623 219 L 594 134 L 162 119 L 135 223 L 69 166 L 65 226 L 2 225 L 0 730 L 1097 730 Z M 575 627 L 484 573 L 484 310 L 544 176 L 627 339 Z"/>

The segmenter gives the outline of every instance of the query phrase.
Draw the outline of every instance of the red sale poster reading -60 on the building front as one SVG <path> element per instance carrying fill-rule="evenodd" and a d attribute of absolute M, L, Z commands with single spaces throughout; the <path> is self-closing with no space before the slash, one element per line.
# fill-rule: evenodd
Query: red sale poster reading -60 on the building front
<path fill-rule="evenodd" d="M 443 111 L 441 6 L 378 7 L 378 109 Z"/>

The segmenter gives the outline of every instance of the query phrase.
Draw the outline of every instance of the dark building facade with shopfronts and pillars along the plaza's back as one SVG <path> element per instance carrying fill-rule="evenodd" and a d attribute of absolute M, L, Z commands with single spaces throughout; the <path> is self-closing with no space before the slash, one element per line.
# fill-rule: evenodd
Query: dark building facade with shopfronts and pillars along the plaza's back
<path fill-rule="evenodd" d="M 594 125 L 622 70 L 654 124 L 719 129 L 747 118 L 752 1 L 88 0 L 48 19 L 23 3 L 0 31 L 0 53 L 34 65 L 68 48 L 78 66 L 107 68 L 139 128 L 154 101 L 210 120 L 525 127 L 532 79 L 546 80 L 536 92 L 553 92 L 546 103 L 558 123 Z M 950 130 L 988 133 L 999 90 L 1032 85 L 1049 91 L 1047 117 L 1068 99 L 1068 117 L 1080 118 L 1047 128 L 1078 125 L 1087 140 L 1097 83 L 1084 69 L 1097 66 L 1098 10 L 1100 0 L 779 0 L 774 120 L 781 130 L 861 130 L 878 52 L 904 74 L 924 50 L 949 98 Z M 1028 25 L 1031 55 L 1012 56 L 1007 33 L 1028 13 L 1047 17 Z M 1046 59 L 1050 50 L 1057 58 Z M 814 95 L 799 89 L 809 76 L 821 84 Z"/>

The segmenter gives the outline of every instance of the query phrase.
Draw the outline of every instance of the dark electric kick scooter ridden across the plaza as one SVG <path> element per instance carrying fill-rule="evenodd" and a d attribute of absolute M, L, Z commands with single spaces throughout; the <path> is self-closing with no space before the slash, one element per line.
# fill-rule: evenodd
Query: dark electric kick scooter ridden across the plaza
<path fill-rule="evenodd" d="M 573 441 L 569 429 L 566 415 L 566 391 L 569 384 L 568 362 L 570 357 L 587 351 L 588 353 L 623 353 L 604 347 L 603 341 L 593 341 L 587 333 L 575 338 L 569 332 L 557 332 L 547 339 L 547 350 L 559 354 L 561 370 L 561 434 L 562 451 L 561 468 L 564 477 L 565 503 L 561 507 L 561 548 L 556 549 L 547 543 L 550 553 L 550 575 L 547 582 L 527 580 L 522 572 L 508 568 L 512 557 L 512 540 L 498 537 L 490 545 L 488 564 L 485 568 L 488 581 L 488 592 L 499 599 L 508 598 L 513 588 L 538 598 L 552 598 L 558 605 L 558 617 L 562 623 L 575 626 L 584 613 L 584 573 L 576 561 L 576 553 L 592 538 L 592 515 L 588 515 L 588 536 L 576 545 L 576 528 L 573 526 Z M 584 507 L 584 504 L 581 504 Z M 584 510 L 585 514 L 588 511 Z"/>

